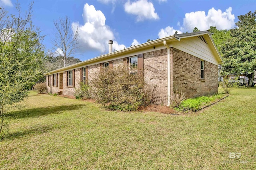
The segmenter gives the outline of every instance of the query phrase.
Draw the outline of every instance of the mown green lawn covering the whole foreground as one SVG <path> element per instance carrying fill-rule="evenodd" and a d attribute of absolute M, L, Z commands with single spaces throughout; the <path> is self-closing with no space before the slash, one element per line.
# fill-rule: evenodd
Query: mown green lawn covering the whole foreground
<path fill-rule="evenodd" d="M 106 111 L 35 92 L 26 104 L 6 117 L 0 169 L 256 169 L 256 88 L 185 115 Z"/>

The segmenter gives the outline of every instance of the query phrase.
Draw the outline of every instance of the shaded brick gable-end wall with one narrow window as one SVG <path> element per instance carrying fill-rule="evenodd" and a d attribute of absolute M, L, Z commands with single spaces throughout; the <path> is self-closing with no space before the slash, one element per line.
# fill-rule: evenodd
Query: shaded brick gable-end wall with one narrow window
<path fill-rule="evenodd" d="M 173 55 L 173 90 L 194 98 L 218 92 L 218 66 L 204 61 L 204 79 L 201 79 L 201 59 L 171 48 Z"/>

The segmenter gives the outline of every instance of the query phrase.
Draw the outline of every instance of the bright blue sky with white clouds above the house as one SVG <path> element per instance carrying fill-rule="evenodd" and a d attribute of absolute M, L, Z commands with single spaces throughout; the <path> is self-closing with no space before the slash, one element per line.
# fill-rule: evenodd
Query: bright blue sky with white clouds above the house
<path fill-rule="evenodd" d="M 22 12 L 29 0 L 18 0 Z M 0 0 L 9 14 L 16 14 L 16 0 Z M 256 10 L 256 0 L 35 0 L 32 21 L 46 35 L 46 50 L 51 44 L 54 20 L 68 16 L 80 32 L 78 55 L 84 61 L 113 50 L 145 43 L 178 33 L 201 31 L 210 26 L 231 29 L 237 16 Z"/>

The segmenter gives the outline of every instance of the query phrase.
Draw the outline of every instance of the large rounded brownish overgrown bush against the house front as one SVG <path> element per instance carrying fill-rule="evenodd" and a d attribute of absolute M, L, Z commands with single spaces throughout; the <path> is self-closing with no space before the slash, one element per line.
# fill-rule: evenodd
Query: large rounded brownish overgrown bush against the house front
<path fill-rule="evenodd" d="M 109 109 L 136 110 L 152 101 L 154 89 L 146 85 L 140 70 L 120 64 L 95 74 L 91 81 L 94 98 Z"/>

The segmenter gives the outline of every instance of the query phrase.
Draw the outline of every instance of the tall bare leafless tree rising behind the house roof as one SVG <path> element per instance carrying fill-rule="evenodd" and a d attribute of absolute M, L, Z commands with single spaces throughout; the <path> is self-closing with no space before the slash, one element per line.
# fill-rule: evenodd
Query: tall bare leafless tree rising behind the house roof
<path fill-rule="evenodd" d="M 62 60 L 63 66 L 68 66 L 70 62 L 75 59 L 76 50 L 78 49 L 78 28 L 73 28 L 70 25 L 70 20 L 68 17 L 59 18 L 59 20 L 54 21 L 56 28 L 55 38 L 52 41 L 52 45 L 56 47 L 56 52 L 58 53 L 58 59 Z M 75 30 L 73 33 L 72 29 Z M 68 59 L 69 58 L 69 59 Z"/>

